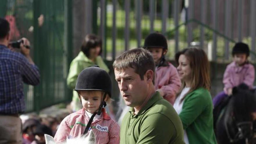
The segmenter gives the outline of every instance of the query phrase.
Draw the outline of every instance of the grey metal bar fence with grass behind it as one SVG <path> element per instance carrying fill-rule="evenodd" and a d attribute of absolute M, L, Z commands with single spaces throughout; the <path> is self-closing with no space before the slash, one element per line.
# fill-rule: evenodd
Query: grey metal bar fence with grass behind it
<path fill-rule="evenodd" d="M 87 29 L 102 36 L 103 56 L 108 60 L 127 49 L 140 47 L 153 31 L 166 35 L 169 59 L 178 50 L 196 45 L 204 48 L 212 61 L 228 62 L 238 41 L 249 44 L 251 59 L 255 59 L 254 0 L 86 1 L 96 7 L 87 11 L 93 17 L 87 19 Z M 96 30 L 92 25 L 95 21 Z"/>

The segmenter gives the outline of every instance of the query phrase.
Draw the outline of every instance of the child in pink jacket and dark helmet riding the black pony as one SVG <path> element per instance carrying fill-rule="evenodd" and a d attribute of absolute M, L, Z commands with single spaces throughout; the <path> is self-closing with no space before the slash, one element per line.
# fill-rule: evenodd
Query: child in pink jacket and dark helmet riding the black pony
<path fill-rule="evenodd" d="M 249 47 L 243 42 L 235 44 L 232 50 L 233 62 L 227 65 L 223 76 L 224 91 L 216 95 L 213 99 L 216 107 L 223 98 L 232 95 L 232 88 L 241 83 L 253 88 L 255 79 L 255 69 L 248 61 Z"/>

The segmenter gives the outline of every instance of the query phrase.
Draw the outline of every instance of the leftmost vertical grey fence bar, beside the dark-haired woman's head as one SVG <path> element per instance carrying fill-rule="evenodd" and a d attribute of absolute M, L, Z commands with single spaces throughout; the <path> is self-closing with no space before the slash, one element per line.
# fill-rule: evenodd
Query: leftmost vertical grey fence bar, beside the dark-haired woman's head
<path fill-rule="evenodd" d="M 104 50 L 105 49 L 105 41 L 106 41 L 106 37 L 105 37 L 105 23 L 106 23 L 106 17 L 105 17 L 105 6 L 106 6 L 106 1 L 105 0 L 101 0 L 100 1 L 100 29 L 101 29 L 101 33 L 100 33 L 100 36 L 101 36 L 101 39 L 102 39 L 102 56 L 105 56 L 106 54 L 106 51 Z M 106 58 L 106 57 L 104 57 Z"/>

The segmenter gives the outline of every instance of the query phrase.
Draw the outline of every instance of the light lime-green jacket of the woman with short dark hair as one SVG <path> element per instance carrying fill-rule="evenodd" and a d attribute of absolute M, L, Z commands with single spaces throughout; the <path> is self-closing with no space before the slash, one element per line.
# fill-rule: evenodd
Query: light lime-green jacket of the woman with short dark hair
<path fill-rule="evenodd" d="M 79 73 L 92 65 L 98 65 L 100 68 L 106 70 L 106 72 L 109 72 L 109 68 L 106 66 L 104 61 L 100 56 L 98 56 L 95 60 L 95 63 L 93 63 L 89 58 L 86 57 L 86 55 L 80 51 L 76 58 L 73 59 L 73 61 L 70 64 L 69 73 L 67 76 L 67 86 L 71 89 L 74 89 L 77 83 L 77 77 Z M 79 101 L 77 92 L 73 90 L 73 98 L 72 103 L 74 105 L 74 111 L 78 111 L 82 108 L 82 105 Z"/>

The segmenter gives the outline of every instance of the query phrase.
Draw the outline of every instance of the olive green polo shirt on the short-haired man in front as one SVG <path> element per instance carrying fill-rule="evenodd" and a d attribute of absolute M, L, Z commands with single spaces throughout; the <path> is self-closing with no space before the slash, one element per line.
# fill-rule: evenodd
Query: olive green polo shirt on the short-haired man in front
<path fill-rule="evenodd" d="M 136 115 L 132 108 L 122 120 L 121 144 L 185 144 L 183 137 L 178 114 L 158 92 Z"/>

